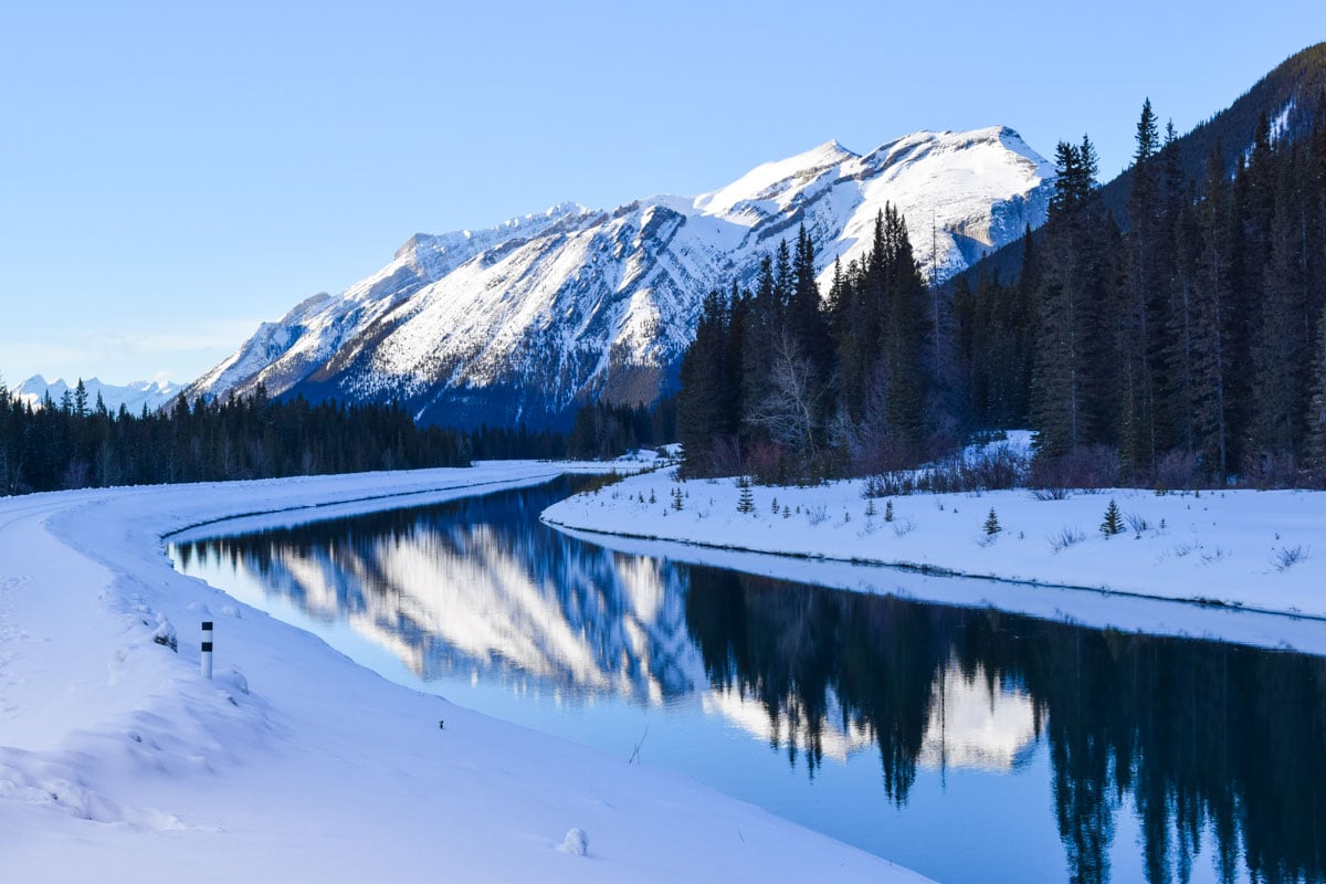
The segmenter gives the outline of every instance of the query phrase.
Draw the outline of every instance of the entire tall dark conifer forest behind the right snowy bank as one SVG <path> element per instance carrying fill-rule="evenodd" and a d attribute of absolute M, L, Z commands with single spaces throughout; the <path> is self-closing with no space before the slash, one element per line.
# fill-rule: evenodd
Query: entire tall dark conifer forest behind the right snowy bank
<path fill-rule="evenodd" d="M 1326 95 L 1311 131 L 1262 114 L 1231 174 L 1179 163 L 1150 101 L 1127 221 L 1089 138 L 1059 143 L 1021 272 L 926 285 L 892 208 L 821 300 L 802 229 L 753 292 L 711 293 L 682 362 L 699 473 L 815 480 L 914 467 L 975 431 L 1030 427 L 1053 484 L 1326 480 Z"/>

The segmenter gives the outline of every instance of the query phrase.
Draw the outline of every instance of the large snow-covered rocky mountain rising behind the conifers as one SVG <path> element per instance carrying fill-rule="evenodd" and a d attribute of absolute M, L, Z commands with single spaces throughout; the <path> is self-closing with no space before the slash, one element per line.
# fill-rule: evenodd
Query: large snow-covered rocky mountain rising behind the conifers
<path fill-rule="evenodd" d="M 375 274 L 264 323 L 187 395 L 398 400 L 426 423 L 541 423 L 603 396 L 651 402 L 704 296 L 751 281 L 805 224 L 821 284 L 865 254 L 886 203 L 936 278 L 1045 220 L 1053 167 L 1010 129 L 829 142 L 697 197 L 564 203 L 480 232 L 419 233 Z"/>

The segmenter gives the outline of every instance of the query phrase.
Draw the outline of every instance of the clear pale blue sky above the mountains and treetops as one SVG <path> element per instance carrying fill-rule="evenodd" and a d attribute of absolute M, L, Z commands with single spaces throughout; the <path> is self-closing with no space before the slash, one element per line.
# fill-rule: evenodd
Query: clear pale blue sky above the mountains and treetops
<path fill-rule="evenodd" d="M 191 380 L 411 233 L 1002 123 L 1122 170 L 1326 38 L 1302 3 L 61 3 L 0 11 L 0 376 Z"/>

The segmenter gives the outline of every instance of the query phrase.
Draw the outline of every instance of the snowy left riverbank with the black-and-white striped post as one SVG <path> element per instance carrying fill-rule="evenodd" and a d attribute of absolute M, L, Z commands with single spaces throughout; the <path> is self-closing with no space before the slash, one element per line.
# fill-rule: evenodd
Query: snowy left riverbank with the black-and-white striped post
<path fill-rule="evenodd" d="M 390 684 L 175 573 L 162 545 L 228 516 L 293 522 L 561 472 L 0 500 L 0 880 L 922 880 L 627 765 L 629 747 L 606 758 Z"/>

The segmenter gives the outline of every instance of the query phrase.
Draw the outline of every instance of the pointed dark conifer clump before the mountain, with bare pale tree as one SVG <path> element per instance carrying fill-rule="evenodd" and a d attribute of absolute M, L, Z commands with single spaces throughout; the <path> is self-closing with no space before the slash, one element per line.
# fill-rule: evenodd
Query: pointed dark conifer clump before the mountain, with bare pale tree
<path fill-rule="evenodd" d="M 705 301 L 682 360 L 678 436 L 700 473 L 802 481 L 908 465 L 957 441 L 939 301 L 894 207 L 862 260 L 834 266 L 827 300 L 805 228 Z"/>

